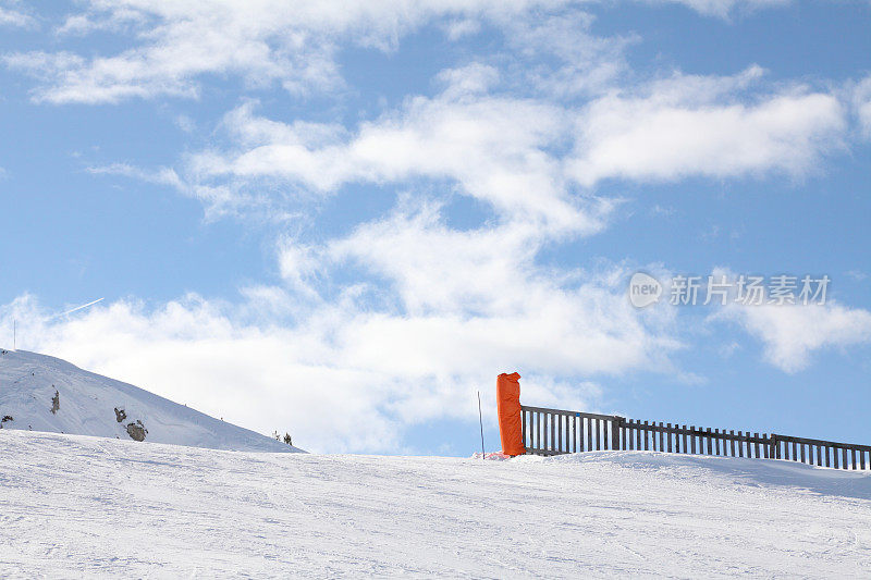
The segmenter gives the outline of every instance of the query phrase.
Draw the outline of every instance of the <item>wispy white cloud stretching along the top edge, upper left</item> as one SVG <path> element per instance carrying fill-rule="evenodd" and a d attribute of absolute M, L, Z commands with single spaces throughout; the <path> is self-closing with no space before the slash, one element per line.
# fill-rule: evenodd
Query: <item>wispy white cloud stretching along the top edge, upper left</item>
<path fill-rule="evenodd" d="M 135 39 L 132 48 L 93 58 L 19 53 L 7 62 L 40 77 L 44 84 L 36 99 L 56 103 L 196 97 L 198 79 L 207 74 L 237 75 L 250 86 L 278 83 L 291 92 L 305 94 L 342 86 L 335 61 L 341 45 L 389 51 L 402 37 L 431 22 L 511 20 L 540 3 L 91 0 L 84 13 L 71 14 L 59 33 L 116 32 Z M 456 26 L 454 34 L 459 34 Z M 461 28 L 471 29 L 469 24 Z"/>

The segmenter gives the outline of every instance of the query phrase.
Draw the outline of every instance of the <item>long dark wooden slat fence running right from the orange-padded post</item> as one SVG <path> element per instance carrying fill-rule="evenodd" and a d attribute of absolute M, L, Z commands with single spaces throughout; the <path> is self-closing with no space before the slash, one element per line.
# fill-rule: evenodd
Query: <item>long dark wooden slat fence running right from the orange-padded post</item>
<path fill-rule="evenodd" d="M 638 421 L 616 415 L 520 407 L 527 453 L 654 451 L 785 459 L 835 469 L 871 469 L 871 446 L 815 439 Z"/>

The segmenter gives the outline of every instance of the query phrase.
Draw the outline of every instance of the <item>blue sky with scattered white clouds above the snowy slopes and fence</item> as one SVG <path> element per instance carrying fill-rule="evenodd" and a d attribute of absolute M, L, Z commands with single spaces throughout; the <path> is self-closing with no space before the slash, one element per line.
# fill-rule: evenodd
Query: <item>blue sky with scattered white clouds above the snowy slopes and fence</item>
<path fill-rule="evenodd" d="M 0 344 L 324 453 L 470 455 L 478 392 L 498 449 L 514 371 L 527 405 L 871 442 L 869 30 L 867 1 L 0 1 Z"/>

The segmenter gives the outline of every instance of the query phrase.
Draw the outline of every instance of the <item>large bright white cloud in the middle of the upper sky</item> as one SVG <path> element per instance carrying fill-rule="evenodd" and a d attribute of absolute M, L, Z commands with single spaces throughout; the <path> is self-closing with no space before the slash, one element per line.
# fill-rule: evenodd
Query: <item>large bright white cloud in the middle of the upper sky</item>
<path fill-rule="evenodd" d="M 279 123 L 254 115 L 253 106 L 245 104 L 224 122 L 234 146 L 193 156 L 186 171 L 195 183 L 229 185 L 243 195 L 262 190 L 263 180 L 278 180 L 295 185 L 291 192 L 303 198 L 355 182 L 449 180 L 503 219 L 586 234 L 602 227 L 609 202 L 572 195 L 561 160 L 550 151 L 567 137 L 571 124 L 563 109 L 480 95 L 495 79 L 489 67 L 440 77 L 453 82 L 443 94 L 409 98 L 401 110 L 355 132 Z M 287 195 L 286 187 L 283 192 Z"/>

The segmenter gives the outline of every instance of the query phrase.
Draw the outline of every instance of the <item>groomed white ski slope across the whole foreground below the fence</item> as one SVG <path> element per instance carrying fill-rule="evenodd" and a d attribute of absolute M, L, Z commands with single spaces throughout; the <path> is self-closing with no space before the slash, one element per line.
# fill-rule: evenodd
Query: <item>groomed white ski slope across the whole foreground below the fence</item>
<path fill-rule="evenodd" d="M 0 576 L 869 578 L 871 478 L 600 452 L 233 453 L 0 431 Z"/>

